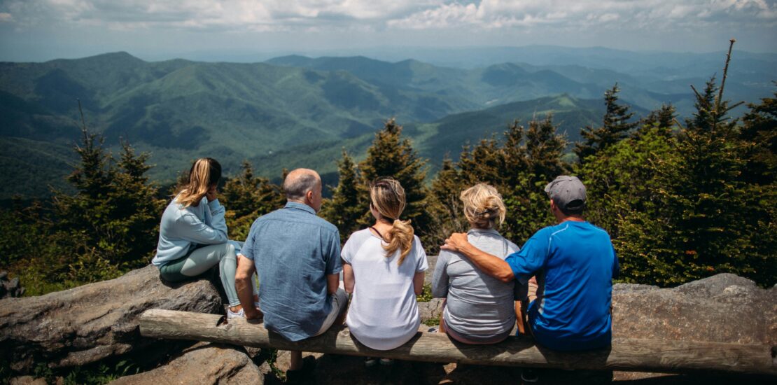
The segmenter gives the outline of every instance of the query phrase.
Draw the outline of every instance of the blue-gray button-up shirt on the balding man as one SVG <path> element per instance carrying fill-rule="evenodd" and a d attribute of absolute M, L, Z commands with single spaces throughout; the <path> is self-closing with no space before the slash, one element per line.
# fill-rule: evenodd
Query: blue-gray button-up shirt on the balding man
<path fill-rule="evenodd" d="M 343 270 L 337 228 L 288 202 L 253 222 L 240 254 L 256 265 L 264 327 L 291 341 L 315 335 L 332 310 L 326 275 Z"/>

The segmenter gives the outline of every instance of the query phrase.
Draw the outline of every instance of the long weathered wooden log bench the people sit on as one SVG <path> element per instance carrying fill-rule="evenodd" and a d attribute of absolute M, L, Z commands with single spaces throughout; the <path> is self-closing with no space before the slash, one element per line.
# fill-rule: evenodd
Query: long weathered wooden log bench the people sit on
<path fill-rule="evenodd" d="M 777 376 L 777 350 L 766 345 L 616 338 L 606 349 L 557 352 L 535 345 L 531 338 L 523 336 L 509 337 L 495 345 L 465 345 L 451 341 L 445 334 L 419 332 L 399 348 L 376 351 L 361 345 L 345 326 L 332 327 L 315 338 L 291 342 L 267 331 L 260 322 L 241 318 L 229 320 L 227 324 L 225 317 L 218 314 L 158 309 L 141 314 L 140 331 L 148 338 L 425 362 L 657 373 L 716 371 Z"/>

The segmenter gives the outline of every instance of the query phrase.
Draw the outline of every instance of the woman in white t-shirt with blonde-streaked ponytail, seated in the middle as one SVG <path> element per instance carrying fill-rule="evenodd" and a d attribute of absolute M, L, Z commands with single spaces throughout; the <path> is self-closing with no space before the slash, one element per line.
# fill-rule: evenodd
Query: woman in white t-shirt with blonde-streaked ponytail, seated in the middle
<path fill-rule="evenodd" d="M 416 295 L 423 289 L 427 254 L 410 221 L 399 220 L 405 190 L 397 180 L 375 180 L 370 201 L 375 225 L 351 234 L 342 252 L 343 284 L 354 295 L 346 324 L 362 344 L 389 350 L 413 338 L 420 326 Z"/>

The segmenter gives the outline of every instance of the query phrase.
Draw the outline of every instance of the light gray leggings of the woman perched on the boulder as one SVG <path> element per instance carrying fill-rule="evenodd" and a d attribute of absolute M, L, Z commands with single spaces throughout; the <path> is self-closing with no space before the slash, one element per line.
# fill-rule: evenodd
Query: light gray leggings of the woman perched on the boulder
<path fill-rule="evenodd" d="M 186 278 L 196 277 L 218 264 L 221 285 L 224 286 L 229 306 L 237 306 L 240 304 L 240 299 L 237 290 L 235 290 L 235 275 L 238 267 L 235 243 L 242 244 L 242 242 L 229 241 L 228 243 L 198 247 L 186 257 L 170 261 L 159 268 L 159 274 L 167 281 L 183 281 Z M 256 295 L 256 275 L 251 283 L 253 294 Z"/>

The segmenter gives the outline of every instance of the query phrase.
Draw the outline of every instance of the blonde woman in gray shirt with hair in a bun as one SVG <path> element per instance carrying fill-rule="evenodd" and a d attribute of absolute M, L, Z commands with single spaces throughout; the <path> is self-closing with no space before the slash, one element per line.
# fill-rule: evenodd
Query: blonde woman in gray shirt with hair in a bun
<path fill-rule="evenodd" d="M 502 259 L 518 250 L 496 229 L 505 215 L 496 188 L 476 184 L 462 191 L 461 200 L 471 227 L 469 243 Z M 515 324 L 515 286 L 486 275 L 458 253 L 441 250 L 432 278 L 432 295 L 445 299 L 440 331 L 465 344 L 503 341 Z"/>

